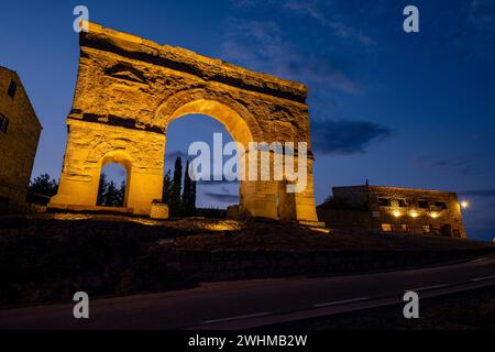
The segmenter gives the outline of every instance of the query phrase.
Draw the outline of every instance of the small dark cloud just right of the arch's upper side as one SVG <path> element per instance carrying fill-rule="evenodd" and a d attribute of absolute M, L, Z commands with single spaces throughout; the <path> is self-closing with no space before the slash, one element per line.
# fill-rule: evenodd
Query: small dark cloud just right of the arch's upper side
<path fill-rule="evenodd" d="M 392 135 L 392 130 L 370 121 L 336 120 L 311 123 L 316 153 L 351 155 L 366 152 L 371 143 Z"/>

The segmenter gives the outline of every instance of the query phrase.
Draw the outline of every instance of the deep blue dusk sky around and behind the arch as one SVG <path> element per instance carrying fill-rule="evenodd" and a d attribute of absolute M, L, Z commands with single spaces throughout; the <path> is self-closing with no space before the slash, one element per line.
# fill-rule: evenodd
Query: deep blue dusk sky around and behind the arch
<path fill-rule="evenodd" d="M 495 234 L 495 1 L 11 1 L 2 6 L 0 65 L 16 70 L 43 123 L 33 176 L 58 178 L 78 36 L 90 21 L 161 44 L 302 81 L 310 88 L 316 196 L 363 184 L 458 191 L 472 238 Z M 403 9 L 420 33 L 403 31 Z M 169 128 L 168 154 L 211 141 L 212 119 Z M 172 158 L 172 156 L 170 156 Z M 170 164 L 170 163 L 168 163 Z M 204 185 L 201 206 L 226 207 L 234 185 Z"/>

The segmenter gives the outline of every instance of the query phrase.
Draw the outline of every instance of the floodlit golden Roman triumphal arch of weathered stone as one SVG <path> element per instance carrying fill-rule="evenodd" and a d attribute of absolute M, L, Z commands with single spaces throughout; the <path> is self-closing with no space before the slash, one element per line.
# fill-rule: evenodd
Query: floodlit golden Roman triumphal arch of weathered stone
<path fill-rule="evenodd" d="M 128 172 L 125 207 L 150 215 L 162 198 L 167 124 L 200 113 L 222 122 L 246 150 L 250 142 L 307 142 L 302 191 L 288 195 L 287 180 L 274 177 L 241 180 L 239 215 L 317 221 L 306 97 L 301 84 L 89 23 L 80 34 L 64 166 L 50 207 L 96 206 L 101 168 L 119 163 Z"/>

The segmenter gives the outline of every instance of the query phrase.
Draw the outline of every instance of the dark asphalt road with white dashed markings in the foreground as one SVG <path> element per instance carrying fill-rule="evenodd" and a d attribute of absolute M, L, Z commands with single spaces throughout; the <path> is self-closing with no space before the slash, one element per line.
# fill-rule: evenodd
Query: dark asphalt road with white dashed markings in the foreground
<path fill-rule="evenodd" d="M 74 305 L 0 310 L 0 329 L 240 329 L 495 284 L 495 254 L 466 263 L 363 275 L 202 284 L 187 290 L 90 300 L 89 319 Z"/>

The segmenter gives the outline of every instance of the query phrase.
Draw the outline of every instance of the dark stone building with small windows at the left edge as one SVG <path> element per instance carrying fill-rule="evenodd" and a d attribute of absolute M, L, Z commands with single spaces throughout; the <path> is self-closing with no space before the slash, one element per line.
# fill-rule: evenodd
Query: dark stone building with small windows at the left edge
<path fill-rule="evenodd" d="M 19 75 L 0 66 L 0 212 L 25 202 L 41 131 Z"/>

